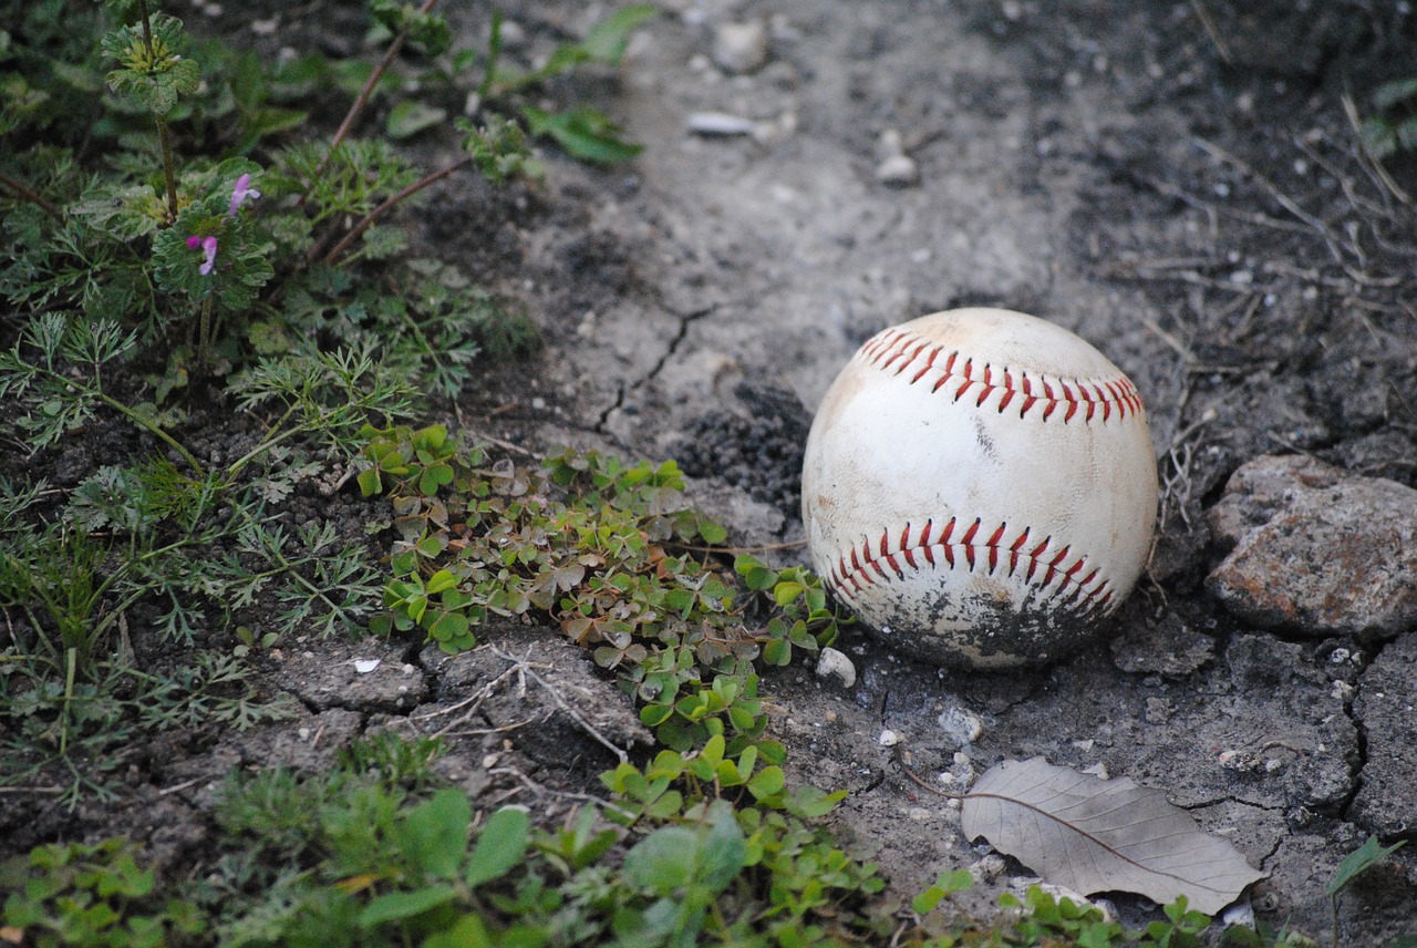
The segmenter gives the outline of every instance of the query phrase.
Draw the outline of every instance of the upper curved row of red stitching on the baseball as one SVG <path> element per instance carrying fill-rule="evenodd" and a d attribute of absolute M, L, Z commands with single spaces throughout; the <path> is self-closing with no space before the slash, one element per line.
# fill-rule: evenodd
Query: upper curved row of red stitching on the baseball
<path fill-rule="evenodd" d="M 939 356 L 948 356 L 939 360 Z M 1118 421 L 1142 414 L 1142 397 L 1129 378 L 1053 378 L 1043 374 L 1030 376 L 1026 371 L 1005 366 L 1002 370 L 983 363 L 976 366 L 972 357 L 944 346 L 931 346 L 928 340 L 898 329 L 888 329 L 862 346 L 862 357 L 870 366 L 894 376 L 905 376 L 905 383 L 914 385 L 931 374 L 930 391 L 937 393 L 951 385 L 948 394 L 959 401 L 979 387 L 975 407 L 982 408 L 990 398 L 999 395 L 998 411 L 1003 411 L 1019 397 L 1019 418 L 1026 418 L 1036 407 L 1043 407 L 1043 421 L 1063 408 L 1063 424 L 1068 424 L 1081 412 L 1081 422 L 1090 424 L 1101 414 L 1101 424 L 1115 415 Z M 956 363 L 964 360 L 962 366 Z M 918 364 L 917 364 L 918 363 Z M 913 371 L 905 370 L 915 366 Z M 1039 394 L 1041 388 L 1041 394 Z"/>

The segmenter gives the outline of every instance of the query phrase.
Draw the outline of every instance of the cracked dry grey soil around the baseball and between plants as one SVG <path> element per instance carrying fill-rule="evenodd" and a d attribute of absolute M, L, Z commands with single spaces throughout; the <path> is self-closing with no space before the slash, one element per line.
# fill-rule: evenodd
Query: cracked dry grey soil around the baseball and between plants
<path fill-rule="evenodd" d="M 1323 935 L 1339 860 L 1373 832 L 1417 836 L 1417 626 L 1408 614 L 1380 633 L 1260 628 L 1206 584 L 1227 553 L 1207 512 L 1264 455 L 1417 482 L 1413 210 L 1357 153 L 1345 111 L 1411 72 L 1410 4 L 663 6 L 619 75 L 551 91 L 606 105 L 646 146 L 632 166 L 551 157 L 541 188 L 461 180 L 407 215 L 415 239 L 527 300 L 546 339 L 526 363 L 489 366 L 455 424 L 523 451 L 677 458 L 731 543 L 775 544 L 801 538 L 812 410 L 871 333 L 973 303 L 1073 329 L 1144 393 L 1165 486 L 1149 575 L 1107 638 L 1050 669 L 983 675 L 910 663 L 852 629 L 839 643 L 852 689 L 803 667 L 768 676 L 774 735 L 798 779 L 850 791 L 835 825 L 898 897 L 988 853 L 905 768 L 958 784 L 1041 754 L 1165 789 L 1268 871 L 1250 893 L 1261 917 Z M 523 55 L 604 13 L 504 7 L 527 31 Z M 305 28 L 337 13 L 317 3 Z M 480 9 L 449 13 L 469 44 L 485 35 Z M 714 30 L 748 21 L 768 54 L 733 74 L 714 62 Z M 757 133 L 696 136 L 697 112 Z M 917 186 L 877 180 L 887 130 Z M 1410 160 L 1390 171 L 1414 190 Z M 351 531 L 361 513 L 339 499 L 316 510 Z M 805 563 L 799 547 L 774 555 Z M 1326 557 L 1309 547 L 1288 568 L 1318 572 Z M 648 745 L 623 696 L 553 629 L 482 639 L 455 659 L 295 643 L 268 673 L 300 720 L 163 738 L 116 808 L 7 801 L 0 825 L 16 849 L 122 828 L 179 866 L 231 767 L 317 767 L 359 733 L 442 733 L 449 778 L 548 819 L 598 791 L 611 745 Z M 356 658 L 383 660 L 357 675 Z M 883 747 L 883 730 L 903 743 Z M 972 910 L 1024 874 L 1005 863 Z M 1349 945 L 1417 931 L 1417 847 L 1360 880 L 1339 921 Z"/>

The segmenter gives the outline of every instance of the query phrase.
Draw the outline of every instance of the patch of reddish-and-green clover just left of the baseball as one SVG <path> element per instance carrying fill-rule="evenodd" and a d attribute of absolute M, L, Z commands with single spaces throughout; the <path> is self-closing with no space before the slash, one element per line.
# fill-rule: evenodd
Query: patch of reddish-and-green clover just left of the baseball
<path fill-rule="evenodd" d="M 683 751 L 721 737 L 728 757 L 762 734 L 752 662 L 785 665 L 794 649 L 836 636 L 836 614 L 806 571 L 740 557 L 740 605 L 733 575 L 684 555 L 726 531 L 686 509 L 673 462 L 563 451 L 540 469 L 489 466 L 436 425 L 364 434 L 360 487 L 390 495 L 398 534 L 376 632 L 419 628 L 458 652 L 489 614 L 544 611 L 619 673 L 662 743 Z M 751 629 L 750 609 L 772 615 Z"/>

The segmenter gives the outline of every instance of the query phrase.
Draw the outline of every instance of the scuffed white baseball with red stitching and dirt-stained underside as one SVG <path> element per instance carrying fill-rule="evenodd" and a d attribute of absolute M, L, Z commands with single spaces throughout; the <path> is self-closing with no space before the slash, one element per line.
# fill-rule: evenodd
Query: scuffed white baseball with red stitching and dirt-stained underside
<path fill-rule="evenodd" d="M 883 641 L 939 665 L 1041 665 L 1087 642 L 1141 575 L 1155 519 L 1136 387 L 1023 313 L 877 333 L 806 442 L 813 568 Z"/>

